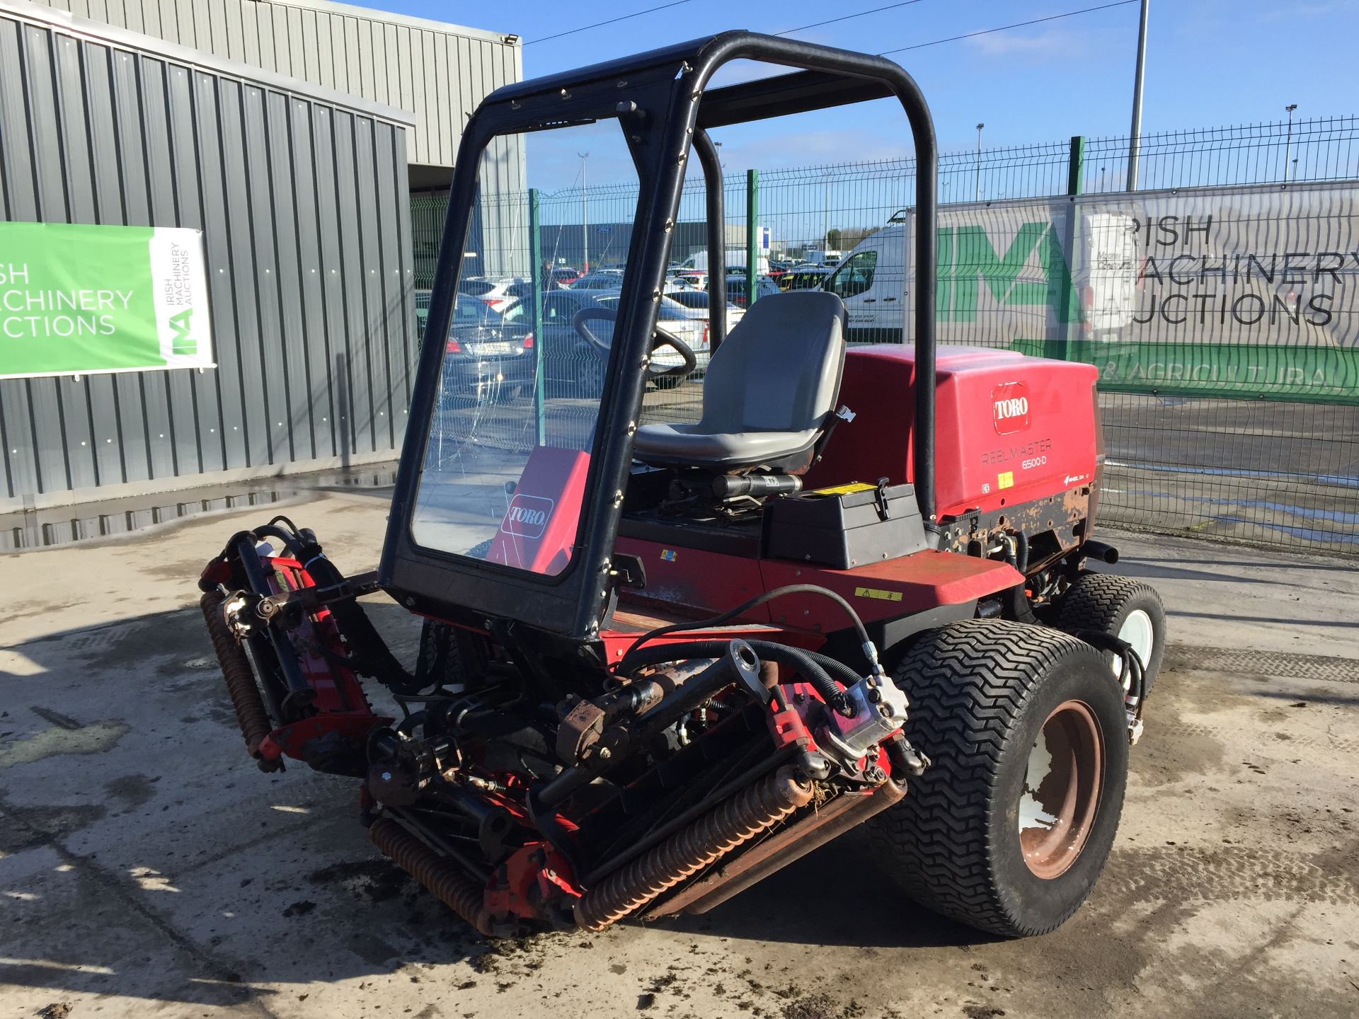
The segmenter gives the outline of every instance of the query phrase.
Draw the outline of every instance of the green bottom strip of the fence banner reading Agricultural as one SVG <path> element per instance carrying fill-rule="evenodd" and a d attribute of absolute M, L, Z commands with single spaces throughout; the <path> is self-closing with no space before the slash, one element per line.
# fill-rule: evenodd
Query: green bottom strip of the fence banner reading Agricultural
<path fill-rule="evenodd" d="M 1109 393 L 1359 405 L 1359 348 L 1017 340 L 1015 351 L 1084 361 Z"/>

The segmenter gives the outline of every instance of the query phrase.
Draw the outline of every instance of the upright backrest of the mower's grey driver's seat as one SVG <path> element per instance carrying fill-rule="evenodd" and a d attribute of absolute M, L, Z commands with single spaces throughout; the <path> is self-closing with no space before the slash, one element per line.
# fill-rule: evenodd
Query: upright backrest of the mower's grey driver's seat
<path fill-rule="evenodd" d="M 704 432 L 800 432 L 836 408 L 845 306 L 828 291 L 760 298 L 712 355 L 703 380 Z"/>

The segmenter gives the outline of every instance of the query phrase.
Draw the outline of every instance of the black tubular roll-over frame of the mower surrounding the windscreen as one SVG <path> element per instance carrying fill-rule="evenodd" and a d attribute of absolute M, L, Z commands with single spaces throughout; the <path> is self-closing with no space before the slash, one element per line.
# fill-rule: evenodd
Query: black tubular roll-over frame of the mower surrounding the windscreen
<path fill-rule="evenodd" d="M 705 94 L 713 72 L 733 60 L 800 69 Z M 444 353 L 444 344 L 425 344 L 401 450 L 379 584 L 406 607 L 454 622 L 476 626 L 489 622 L 496 629 L 527 626 L 569 641 L 593 640 L 613 594 L 612 557 L 632 462 L 632 433 L 646 389 L 643 367 L 656 327 L 690 145 L 707 181 L 711 270 L 724 265 L 726 236 L 722 168 L 708 129 L 892 96 L 906 113 L 916 147 L 915 485 L 921 516 L 934 520 L 938 151 L 924 95 L 901 67 L 882 57 L 730 31 L 506 86 L 492 92 L 467 122 L 458 148 L 427 336 L 447 334 L 462 242 L 477 197 L 480 159 L 495 136 L 617 118 L 637 168 L 635 257 L 624 270 L 614 349 L 582 504 L 580 543 L 563 573 L 544 577 L 413 542 L 410 519 Z M 726 277 L 716 272 L 708 277 L 709 310 L 720 311 L 726 307 Z M 715 342 L 720 342 L 724 326 L 726 315 L 709 314 Z"/>

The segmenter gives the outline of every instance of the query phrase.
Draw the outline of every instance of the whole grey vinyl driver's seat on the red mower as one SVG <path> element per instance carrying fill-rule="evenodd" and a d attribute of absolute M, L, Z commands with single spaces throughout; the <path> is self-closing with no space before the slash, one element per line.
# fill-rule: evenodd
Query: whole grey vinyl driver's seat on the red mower
<path fill-rule="evenodd" d="M 844 359 L 839 296 L 794 291 L 761 298 L 708 364 L 703 417 L 643 425 L 633 457 L 719 474 L 800 474 L 834 412 Z"/>

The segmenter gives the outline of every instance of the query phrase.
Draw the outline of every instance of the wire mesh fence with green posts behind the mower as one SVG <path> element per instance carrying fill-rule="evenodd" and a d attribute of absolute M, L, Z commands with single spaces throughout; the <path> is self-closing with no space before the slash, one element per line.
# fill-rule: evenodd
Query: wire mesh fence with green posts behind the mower
<path fill-rule="evenodd" d="M 1128 139 L 946 154 L 939 338 L 1098 368 L 1105 520 L 1359 553 L 1356 143 L 1355 117 L 1144 135 L 1139 192 L 1125 190 Z M 586 187 L 583 171 L 538 194 L 554 314 L 617 289 L 631 247 L 636 186 Z M 728 326 L 752 289 L 824 287 L 845 299 L 853 341 L 909 341 L 915 174 L 912 159 L 727 174 L 723 266 L 708 265 L 690 174 L 671 327 L 707 357 L 701 287 L 720 272 Z M 469 250 L 495 246 L 478 224 L 522 226 L 522 208 L 520 194 L 484 198 Z M 444 211 L 443 196 L 412 197 L 417 287 L 432 281 Z M 572 385 L 602 385 L 587 352 L 563 367 Z M 652 385 L 644 420 L 701 408 L 700 367 Z"/>

